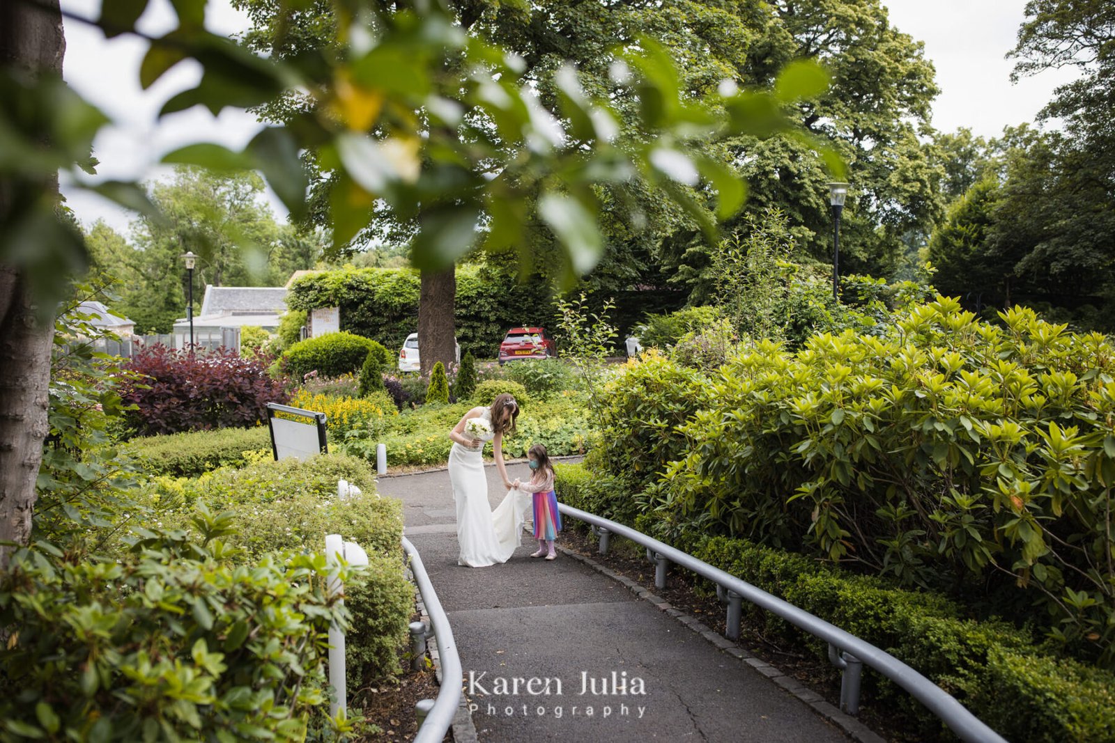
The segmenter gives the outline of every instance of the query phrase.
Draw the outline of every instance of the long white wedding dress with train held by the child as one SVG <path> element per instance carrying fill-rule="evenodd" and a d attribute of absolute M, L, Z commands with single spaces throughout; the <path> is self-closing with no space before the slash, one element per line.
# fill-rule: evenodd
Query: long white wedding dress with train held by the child
<path fill-rule="evenodd" d="M 485 408 L 481 417 L 492 422 L 489 409 Z M 483 438 L 489 441 L 492 434 Z M 522 545 L 531 493 L 508 490 L 493 511 L 487 499 L 483 453 L 456 442 L 449 450 L 449 481 L 453 499 L 457 502 L 457 541 L 460 542 L 457 565 L 478 568 L 506 563 Z"/>

